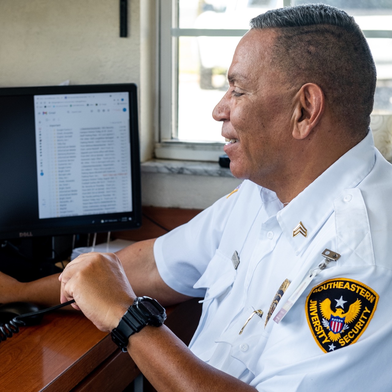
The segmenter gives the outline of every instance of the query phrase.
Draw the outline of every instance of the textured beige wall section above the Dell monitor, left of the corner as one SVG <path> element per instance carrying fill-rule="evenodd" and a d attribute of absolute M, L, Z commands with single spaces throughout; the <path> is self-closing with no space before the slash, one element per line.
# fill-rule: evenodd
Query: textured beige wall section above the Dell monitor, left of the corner
<path fill-rule="evenodd" d="M 140 7 L 129 0 L 0 0 L 0 87 L 140 81 Z"/>

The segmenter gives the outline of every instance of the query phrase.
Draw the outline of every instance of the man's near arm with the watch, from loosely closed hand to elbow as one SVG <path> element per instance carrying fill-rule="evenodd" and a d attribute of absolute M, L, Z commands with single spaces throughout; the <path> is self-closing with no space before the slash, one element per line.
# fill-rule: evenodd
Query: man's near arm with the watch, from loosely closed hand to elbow
<path fill-rule="evenodd" d="M 62 302 L 75 299 L 74 307 L 104 331 L 117 327 L 136 297 L 120 260 L 112 254 L 79 256 L 60 279 Z M 158 391 L 254 391 L 198 359 L 165 326 L 146 326 L 133 334 L 128 352 Z"/>

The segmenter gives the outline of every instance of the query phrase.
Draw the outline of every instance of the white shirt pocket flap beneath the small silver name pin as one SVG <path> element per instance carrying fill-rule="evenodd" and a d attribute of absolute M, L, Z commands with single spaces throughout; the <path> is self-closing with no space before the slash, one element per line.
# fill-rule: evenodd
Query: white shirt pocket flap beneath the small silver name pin
<path fill-rule="evenodd" d="M 203 275 L 193 286 L 195 289 L 207 289 L 204 299 L 200 302 L 214 298 L 222 300 L 230 292 L 236 276 L 237 270 L 234 269 L 231 259 L 219 249 L 216 250 Z"/>

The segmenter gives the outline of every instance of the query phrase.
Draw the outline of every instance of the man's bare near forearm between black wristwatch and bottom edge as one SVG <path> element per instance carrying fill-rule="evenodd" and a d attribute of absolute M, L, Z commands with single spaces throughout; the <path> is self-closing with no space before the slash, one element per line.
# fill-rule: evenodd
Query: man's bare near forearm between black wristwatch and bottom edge
<path fill-rule="evenodd" d="M 201 361 L 164 325 L 146 326 L 133 334 L 127 349 L 158 392 L 254 391 Z"/>

